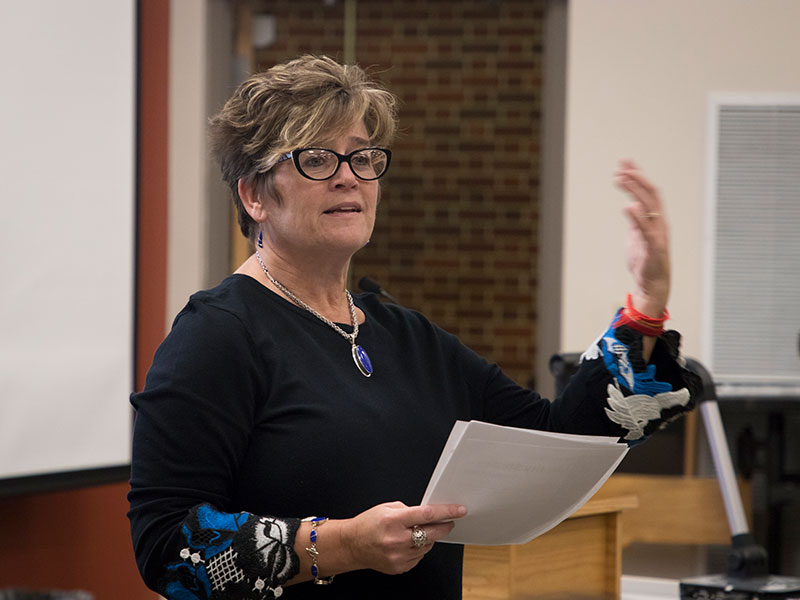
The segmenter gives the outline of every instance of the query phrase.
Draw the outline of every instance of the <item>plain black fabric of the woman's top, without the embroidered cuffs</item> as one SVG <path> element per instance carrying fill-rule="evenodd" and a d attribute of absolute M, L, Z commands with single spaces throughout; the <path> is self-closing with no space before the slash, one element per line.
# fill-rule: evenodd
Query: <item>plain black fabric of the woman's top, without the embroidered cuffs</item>
<path fill-rule="evenodd" d="M 340 334 L 244 275 L 193 295 L 177 316 L 132 396 L 129 516 L 148 585 L 165 593 L 164 570 L 187 548 L 182 522 L 203 503 L 297 518 L 419 504 L 457 419 L 624 433 L 604 414 L 602 360 L 550 403 L 419 313 L 373 294 L 355 303 L 369 378 Z M 440 543 L 403 575 L 344 573 L 324 588 L 286 587 L 283 598 L 460 598 L 461 558 L 461 546 Z"/>

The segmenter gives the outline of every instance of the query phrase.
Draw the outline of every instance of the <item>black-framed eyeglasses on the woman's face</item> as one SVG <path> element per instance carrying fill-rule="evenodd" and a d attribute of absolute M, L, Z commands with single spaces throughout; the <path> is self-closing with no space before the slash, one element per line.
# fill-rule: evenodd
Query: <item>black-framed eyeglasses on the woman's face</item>
<path fill-rule="evenodd" d="M 350 154 L 339 154 L 327 148 L 299 148 L 284 154 L 278 162 L 290 158 L 300 175 L 314 181 L 330 179 L 343 162 L 350 165 L 353 175 L 359 179 L 373 181 L 389 170 L 392 152 L 386 148 L 359 148 Z"/>

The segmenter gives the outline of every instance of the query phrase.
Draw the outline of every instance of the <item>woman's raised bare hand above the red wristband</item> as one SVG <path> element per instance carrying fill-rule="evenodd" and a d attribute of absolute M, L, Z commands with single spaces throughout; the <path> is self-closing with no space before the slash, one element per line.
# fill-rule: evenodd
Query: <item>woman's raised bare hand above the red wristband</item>
<path fill-rule="evenodd" d="M 653 318 L 667 308 L 670 290 L 669 228 L 655 186 L 632 161 L 620 161 L 616 184 L 632 202 L 625 207 L 630 221 L 627 262 L 636 283 L 633 307 Z"/>

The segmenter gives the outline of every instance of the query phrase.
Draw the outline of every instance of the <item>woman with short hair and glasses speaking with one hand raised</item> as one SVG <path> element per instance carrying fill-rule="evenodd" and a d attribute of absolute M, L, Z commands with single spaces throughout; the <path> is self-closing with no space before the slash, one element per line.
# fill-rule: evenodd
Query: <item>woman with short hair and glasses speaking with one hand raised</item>
<path fill-rule="evenodd" d="M 192 296 L 132 397 L 134 546 L 168 598 L 460 598 L 462 548 L 434 542 L 466 508 L 418 506 L 457 419 L 637 440 L 691 404 L 662 335 L 667 227 L 631 163 L 637 289 L 552 404 L 423 316 L 352 297 L 394 107 L 358 67 L 305 56 L 212 119 L 256 252 Z M 662 410 L 642 416 L 642 394 Z"/>

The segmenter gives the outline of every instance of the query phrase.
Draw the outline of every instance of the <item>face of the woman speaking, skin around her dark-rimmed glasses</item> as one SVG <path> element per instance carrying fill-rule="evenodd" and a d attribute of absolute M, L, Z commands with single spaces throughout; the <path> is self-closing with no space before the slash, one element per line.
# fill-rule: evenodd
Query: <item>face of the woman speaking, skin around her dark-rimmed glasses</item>
<path fill-rule="evenodd" d="M 369 146 L 363 123 L 320 147 L 349 154 Z M 282 202 L 266 200 L 263 224 L 265 243 L 280 252 L 341 252 L 351 256 L 372 235 L 378 204 L 378 182 L 358 179 L 350 165 L 342 163 L 336 174 L 313 181 L 298 173 L 291 160 L 274 167 L 274 181 Z"/>

